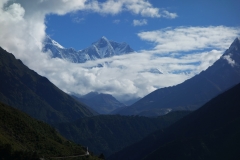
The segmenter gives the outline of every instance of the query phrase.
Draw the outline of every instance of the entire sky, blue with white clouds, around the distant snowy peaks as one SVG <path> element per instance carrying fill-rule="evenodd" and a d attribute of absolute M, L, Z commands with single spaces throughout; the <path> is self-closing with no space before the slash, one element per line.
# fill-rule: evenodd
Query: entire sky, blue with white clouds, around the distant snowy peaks
<path fill-rule="evenodd" d="M 239 8 L 239 0 L 1 0 L 0 46 L 67 93 L 124 101 L 212 65 L 240 36 Z M 76 50 L 105 36 L 136 53 L 74 64 L 42 53 L 46 35 Z"/>

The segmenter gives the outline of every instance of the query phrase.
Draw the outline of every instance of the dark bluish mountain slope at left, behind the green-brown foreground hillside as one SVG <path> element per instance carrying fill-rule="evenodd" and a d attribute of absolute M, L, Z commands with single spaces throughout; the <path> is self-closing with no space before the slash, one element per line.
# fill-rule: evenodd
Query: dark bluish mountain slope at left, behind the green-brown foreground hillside
<path fill-rule="evenodd" d="M 92 116 L 87 106 L 0 48 L 0 101 L 50 124 Z"/>

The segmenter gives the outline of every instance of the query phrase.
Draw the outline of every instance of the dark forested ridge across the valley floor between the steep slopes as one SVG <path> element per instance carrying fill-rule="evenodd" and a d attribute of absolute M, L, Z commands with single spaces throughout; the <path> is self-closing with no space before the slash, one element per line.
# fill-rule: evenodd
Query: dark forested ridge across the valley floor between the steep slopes
<path fill-rule="evenodd" d="M 109 156 L 187 114 L 189 111 L 178 111 L 158 118 L 100 115 L 61 123 L 56 128 L 66 138 L 88 146 L 95 154 Z"/>

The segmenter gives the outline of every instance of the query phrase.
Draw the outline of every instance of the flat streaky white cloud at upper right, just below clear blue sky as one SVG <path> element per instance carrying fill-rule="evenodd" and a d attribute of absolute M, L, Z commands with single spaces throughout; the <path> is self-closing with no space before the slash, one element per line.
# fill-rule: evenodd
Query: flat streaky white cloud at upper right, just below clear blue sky
<path fill-rule="evenodd" d="M 153 52 L 165 53 L 207 48 L 226 49 L 239 33 L 239 28 L 209 26 L 164 28 L 140 32 L 138 36 L 155 44 Z"/>

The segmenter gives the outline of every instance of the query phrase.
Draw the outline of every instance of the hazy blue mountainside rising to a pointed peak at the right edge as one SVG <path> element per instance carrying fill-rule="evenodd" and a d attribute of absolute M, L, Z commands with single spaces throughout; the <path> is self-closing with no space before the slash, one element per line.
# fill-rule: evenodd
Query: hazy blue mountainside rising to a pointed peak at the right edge
<path fill-rule="evenodd" d="M 236 38 L 207 70 L 179 85 L 158 89 L 118 114 L 153 115 L 162 114 L 168 109 L 194 110 L 239 82 L 240 40 Z"/>

